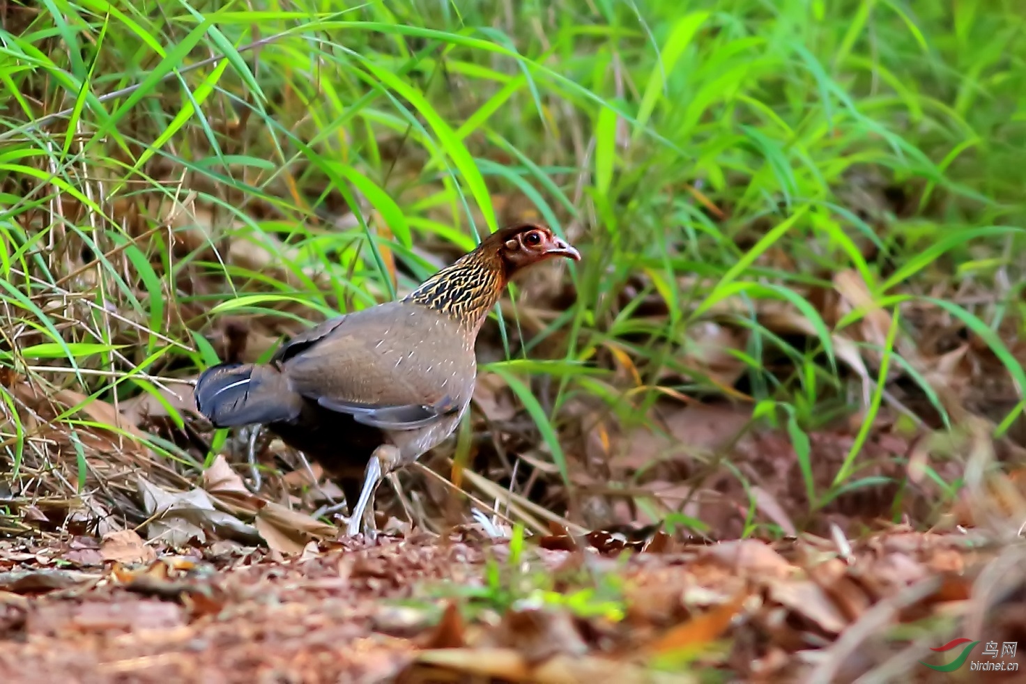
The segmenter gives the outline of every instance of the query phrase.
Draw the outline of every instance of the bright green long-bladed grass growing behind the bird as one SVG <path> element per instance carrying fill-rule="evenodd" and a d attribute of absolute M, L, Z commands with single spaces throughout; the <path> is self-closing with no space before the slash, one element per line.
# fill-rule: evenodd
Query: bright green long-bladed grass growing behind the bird
<path fill-rule="evenodd" d="M 576 456 L 560 436 L 582 401 L 630 427 L 668 393 L 740 393 L 790 435 L 811 511 L 870 486 L 860 454 L 889 368 L 948 419 L 905 358 L 915 304 L 960 322 L 1026 386 L 1010 352 L 1026 183 L 1026 42 L 1010 1 L 10 11 L 0 365 L 39 381 L 108 402 L 156 394 L 160 377 L 216 360 L 203 332 L 220 316 L 292 325 L 391 297 L 522 198 L 582 247 L 576 304 L 522 340 L 504 316 L 509 360 L 489 366 L 564 479 Z M 853 336 L 867 310 L 831 320 L 817 304 L 842 271 L 892 315 L 883 349 Z M 960 288 L 989 297 L 947 298 Z M 771 306 L 797 337 L 766 322 Z M 743 390 L 688 363 L 703 321 L 745 332 L 726 352 Z M 48 447 L 2 392 L 17 470 Z M 843 467 L 816 482 L 807 433 L 864 398 Z"/>

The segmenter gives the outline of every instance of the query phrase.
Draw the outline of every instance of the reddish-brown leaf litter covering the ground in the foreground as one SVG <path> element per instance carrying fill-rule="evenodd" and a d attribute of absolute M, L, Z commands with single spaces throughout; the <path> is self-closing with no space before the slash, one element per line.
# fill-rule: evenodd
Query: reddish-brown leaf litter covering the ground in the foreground
<path fill-rule="evenodd" d="M 965 531 L 891 526 L 851 540 L 843 557 L 833 540 L 808 534 L 706 544 L 658 532 L 658 549 L 649 539 L 625 559 L 624 545 L 610 544 L 616 535 L 597 531 L 570 550 L 546 549 L 562 546 L 564 533 L 553 531 L 516 552 L 516 564 L 510 539 L 483 541 L 470 527 L 442 539 L 323 541 L 284 561 L 267 549 L 182 556 L 163 548 L 152 558 L 141 537 L 121 534 L 105 540 L 104 569 L 87 579 L 14 569 L 31 554 L 5 541 L 0 676 L 701 681 L 681 674 L 687 662 L 753 681 L 854 681 L 892 657 L 928 657 L 947 638 L 923 644 L 907 633 L 929 634 L 930 619 L 975 620 L 986 634 L 971 636 L 996 641 L 1016 640 L 1023 625 L 1009 621 L 1022 610 L 1022 576 L 997 591 L 981 582 L 996 566 L 1026 560 L 1026 548 Z M 522 594 L 489 593 L 489 564 Z M 542 568 L 554 581 L 548 590 L 519 585 Z M 52 576 L 66 578 L 43 579 Z M 556 589 L 580 600 L 560 601 Z M 885 621 L 875 617 L 881 609 Z M 875 627 L 859 634 L 858 647 L 841 648 L 868 622 Z M 827 679 L 803 679 L 826 671 Z"/>

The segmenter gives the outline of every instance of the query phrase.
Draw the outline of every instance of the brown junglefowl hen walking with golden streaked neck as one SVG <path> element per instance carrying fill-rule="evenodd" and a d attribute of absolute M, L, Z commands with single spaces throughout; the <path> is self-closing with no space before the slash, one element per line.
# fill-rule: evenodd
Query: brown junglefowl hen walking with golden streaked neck
<path fill-rule="evenodd" d="M 224 363 L 196 381 L 218 428 L 262 424 L 334 477 L 347 532 L 376 530 L 382 479 L 447 438 L 474 393 L 477 333 L 510 279 L 581 254 L 547 227 L 487 236 L 401 299 L 344 314 L 292 337 L 266 364 Z"/>

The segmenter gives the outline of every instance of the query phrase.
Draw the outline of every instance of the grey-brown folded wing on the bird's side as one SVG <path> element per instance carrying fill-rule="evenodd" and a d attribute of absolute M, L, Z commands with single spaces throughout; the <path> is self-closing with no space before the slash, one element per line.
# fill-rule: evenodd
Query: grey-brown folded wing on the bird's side
<path fill-rule="evenodd" d="M 474 354 L 459 334 L 432 312 L 390 303 L 308 333 L 303 349 L 282 355 L 282 372 L 326 409 L 413 430 L 458 411 L 473 392 Z"/>

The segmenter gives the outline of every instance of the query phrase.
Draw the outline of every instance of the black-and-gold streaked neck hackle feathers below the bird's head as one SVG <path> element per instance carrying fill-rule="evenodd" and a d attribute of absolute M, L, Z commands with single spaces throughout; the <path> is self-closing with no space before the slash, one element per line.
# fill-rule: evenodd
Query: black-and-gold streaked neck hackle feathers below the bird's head
<path fill-rule="evenodd" d="M 476 332 L 508 280 L 502 257 L 478 247 L 428 278 L 405 299 L 440 311 Z"/>

